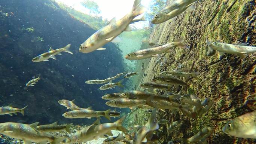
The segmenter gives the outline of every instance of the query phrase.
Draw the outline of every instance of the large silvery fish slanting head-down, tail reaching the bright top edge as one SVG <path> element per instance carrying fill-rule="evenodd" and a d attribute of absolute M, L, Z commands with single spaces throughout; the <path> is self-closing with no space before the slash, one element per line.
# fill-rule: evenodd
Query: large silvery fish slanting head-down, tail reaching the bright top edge
<path fill-rule="evenodd" d="M 102 50 L 101 48 L 108 42 L 114 42 L 115 38 L 123 31 L 131 31 L 129 24 L 132 20 L 144 13 L 146 8 L 140 4 L 141 0 L 134 0 L 131 12 L 125 15 L 123 18 L 116 21 L 115 18 L 103 28 L 92 34 L 85 42 L 79 47 L 79 52 L 89 53 L 96 49 Z"/>

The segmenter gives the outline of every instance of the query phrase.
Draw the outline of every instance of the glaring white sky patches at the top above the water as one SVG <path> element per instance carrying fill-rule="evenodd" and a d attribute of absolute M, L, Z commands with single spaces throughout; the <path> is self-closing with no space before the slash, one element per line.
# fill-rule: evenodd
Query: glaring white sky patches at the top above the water
<path fill-rule="evenodd" d="M 83 0 L 55 0 L 57 2 L 63 2 L 68 6 L 72 6 L 74 9 L 89 13 L 86 11 L 85 7 L 82 6 L 81 2 Z M 110 21 L 112 18 L 116 19 L 122 18 L 128 12 L 131 11 L 134 0 L 92 0 L 95 1 L 101 13 L 99 16 L 102 16 L 103 19 Z M 141 4 L 145 7 L 149 7 L 151 0 L 141 0 Z M 144 25 L 147 26 L 148 22 L 136 22 L 134 25 L 136 28 L 142 28 Z"/>

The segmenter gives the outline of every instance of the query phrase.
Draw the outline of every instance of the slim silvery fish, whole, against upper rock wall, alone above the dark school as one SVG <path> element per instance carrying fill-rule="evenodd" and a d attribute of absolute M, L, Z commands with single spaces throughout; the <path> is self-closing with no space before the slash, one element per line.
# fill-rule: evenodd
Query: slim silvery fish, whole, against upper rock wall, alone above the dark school
<path fill-rule="evenodd" d="M 182 44 L 182 41 L 183 41 L 183 37 L 180 37 L 179 39 L 162 46 L 142 49 L 132 53 L 128 53 L 127 55 L 125 55 L 125 58 L 129 60 L 139 60 L 139 59 L 151 58 L 153 56 L 159 57 L 159 54 L 161 53 L 172 52 L 171 48 L 174 48 L 176 46 L 180 48 L 188 48 L 188 46 Z"/>

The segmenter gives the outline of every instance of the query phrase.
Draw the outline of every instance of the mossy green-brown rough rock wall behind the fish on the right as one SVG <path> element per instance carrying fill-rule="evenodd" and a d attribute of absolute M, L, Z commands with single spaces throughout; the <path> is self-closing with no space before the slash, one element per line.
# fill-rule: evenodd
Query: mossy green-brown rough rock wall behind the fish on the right
<path fill-rule="evenodd" d="M 167 4 L 171 1 L 168 0 Z M 251 144 L 252 139 L 243 139 L 229 136 L 222 132 L 228 120 L 242 114 L 256 110 L 256 56 L 246 54 L 244 58 L 237 55 L 225 54 L 219 59 L 219 52 L 206 56 L 208 46 L 206 40 L 223 43 L 249 43 L 256 45 L 255 35 L 255 1 L 254 0 L 204 0 L 195 4 L 195 10 L 183 12 L 173 22 L 157 24 L 150 35 L 150 40 L 159 44 L 172 42 L 179 37 L 184 37 L 184 43 L 189 49 L 174 48 L 171 53 L 161 54 L 161 61 L 167 59 L 166 65 L 160 67 L 157 58 L 151 58 L 149 64 L 144 65 L 145 73 L 138 80 L 151 82 L 153 77 L 161 71 L 175 69 L 183 65 L 185 72 L 200 72 L 198 79 L 183 79 L 189 88 L 183 94 L 195 94 L 201 100 L 205 97 L 214 99 L 214 105 L 208 113 L 192 120 L 183 113 L 166 113 L 159 111 L 158 119 L 168 119 L 170 122 L 183 120 L 180 129 L 168 132 L 170 125 L 161 125 L 163 132 L 158 132 L 160 141 L 167 143 L 183 143 L 179 138 L 189 138 L 194 132 L 211 126 L 213 134 L 207 138 L 208 144 Z M 140 66 L 139 62 L 138 65 Z M 138 86 L 138 89 L 142 89 Z M 177 93 L 176 89 L 173 89 Z M 162 92 L 165 93 L 165 92 Z M 143 110 L 138 114 L 138 125 L 143 125 L 147 117 Z"/>

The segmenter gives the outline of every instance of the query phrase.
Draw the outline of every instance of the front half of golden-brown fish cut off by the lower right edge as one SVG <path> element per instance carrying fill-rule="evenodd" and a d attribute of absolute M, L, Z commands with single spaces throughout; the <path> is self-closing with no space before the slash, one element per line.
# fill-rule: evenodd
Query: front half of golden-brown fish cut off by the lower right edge
<path fill-rule="evenodd" d="M 246 113 L 230 120 L 223 126 L 225 134 L 238 138 L 256 138 L 256 111 Z"/>

